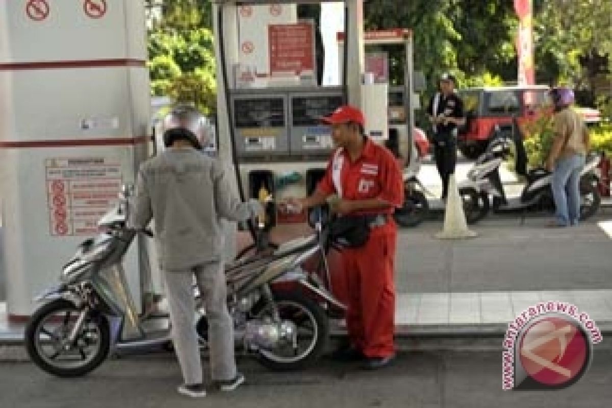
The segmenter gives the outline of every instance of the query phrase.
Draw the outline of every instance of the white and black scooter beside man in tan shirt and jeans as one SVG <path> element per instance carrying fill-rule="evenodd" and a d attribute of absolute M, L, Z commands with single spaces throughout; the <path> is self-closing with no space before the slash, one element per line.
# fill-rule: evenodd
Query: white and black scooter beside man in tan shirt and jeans
<path fill-rule="evenodd" d="M 516 212 L 517 210 L 547 210 L 554 212 L 553 191 L 551 188 L 552 173 L 547 169 L 536 168 L 527 171 L 526 153 L 523 146 L 523 135 L 515 124 L 513 144 L 515 147 L 515 171 L 524 176 L 526 184 L 521 195 L 508 199 L 499 176 L 499 166 L 510 150 L 508 138 L 493 138 L 487 150 L 474 163 L 468 172 L 468 180 L 458 185 L 463 200 L 463 209 L 468 223 L 475 223 L 487 215 L 490 209 L 489 197 L 495 212 Z M 600 195 L 597 190 L 599 179 L 595 172 L 599 156 L 589 155 L 586 165 L 581 170 L 580 179 L 580 220 L 594 215 L 600 206 Z"/>

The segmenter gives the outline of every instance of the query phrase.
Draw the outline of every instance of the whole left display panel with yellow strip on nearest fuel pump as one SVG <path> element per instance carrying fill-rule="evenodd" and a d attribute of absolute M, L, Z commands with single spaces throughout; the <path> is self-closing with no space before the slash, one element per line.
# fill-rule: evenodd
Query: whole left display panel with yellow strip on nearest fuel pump
<path fill-rule="evenodd" d="M 234 95 L 233 123 L 237 152 L 241 157 L 288 154 L 285 95 Z"/>

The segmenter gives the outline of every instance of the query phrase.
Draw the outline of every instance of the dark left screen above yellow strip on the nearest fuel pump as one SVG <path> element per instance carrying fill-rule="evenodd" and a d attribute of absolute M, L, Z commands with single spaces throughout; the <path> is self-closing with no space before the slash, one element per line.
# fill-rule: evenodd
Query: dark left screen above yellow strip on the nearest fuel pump
<path fill-rule="evenodd" d="M 283 98 L 237 99 L 234 110 L 237 128 L 285 126 Z"/>

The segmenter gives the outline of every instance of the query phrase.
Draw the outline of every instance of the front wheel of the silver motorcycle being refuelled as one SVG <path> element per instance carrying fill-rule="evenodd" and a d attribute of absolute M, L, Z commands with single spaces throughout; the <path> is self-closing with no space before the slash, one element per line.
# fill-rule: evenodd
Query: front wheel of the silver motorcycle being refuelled
<path fill-rule="evenodd" d="M 110 328 L 103 317 L 86 317 L 73 343 L 67 343 L 80 310 L 64 299 L 35 311 L 26 326 L 28 355 L 37 366 L 58 377 L 79 377 L 93 371 L 108 355 Z"/>

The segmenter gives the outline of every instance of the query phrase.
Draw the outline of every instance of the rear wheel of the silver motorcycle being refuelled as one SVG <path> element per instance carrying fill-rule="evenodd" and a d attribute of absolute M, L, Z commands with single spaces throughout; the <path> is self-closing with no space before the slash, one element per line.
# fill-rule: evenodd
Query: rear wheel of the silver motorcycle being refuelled
<path fill-rule="evenodd" d="M 274 371 L 303 369 L 316 362 L 329 339 L 329 320 L 321 305 L 300 292 L 274 292 L 274 301 L 280 318 L 296 325 L 297 347 L 283 344 L 274 349 L 260 349 L 259 362 Z M 260 316 L 270 312 L 266 306 Z"/>

